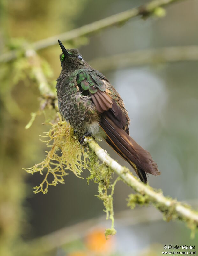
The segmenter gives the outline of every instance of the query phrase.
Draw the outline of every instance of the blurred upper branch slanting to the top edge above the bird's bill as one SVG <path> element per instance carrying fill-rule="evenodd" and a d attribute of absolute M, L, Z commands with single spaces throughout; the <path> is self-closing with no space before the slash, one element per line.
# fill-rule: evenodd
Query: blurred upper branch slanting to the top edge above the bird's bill
<path fill-rule="evenodd" d="M 181 1 L 181 0 L 153 0 L 148 4 L 142 5 L 140 7 L 132 8 L 125 12 L 121 12 L 121 13 L 109 16 L 107 18 L 101 19 L 99 21 L 95 21 L 91 24 L 84 25 L 80 28 L 73 29 L 71 31 L 68 31 L 62 34 L 37 41 L 32 44 L 32 47 L 34 50 L 37 51 L 37 50 L 41 50 L 41 49 L 56 45 L 57 39 L 60 39 L 63 42 L 68 42 L 78 37 L 89 36 L 102 29 L 106 29 L 114 25 L 124 24 L 126 21 L 136 16 L 148 17 L 149 15 L 153 14 L 158 7 L 163 7 L 178 1 Z M 0 56 L 0 63 L 8 62 L 10 60 L 16 59 L 17 56 L 18 56 L 17 51 L 11 51 L 11 52 L 2 54 Z"/>

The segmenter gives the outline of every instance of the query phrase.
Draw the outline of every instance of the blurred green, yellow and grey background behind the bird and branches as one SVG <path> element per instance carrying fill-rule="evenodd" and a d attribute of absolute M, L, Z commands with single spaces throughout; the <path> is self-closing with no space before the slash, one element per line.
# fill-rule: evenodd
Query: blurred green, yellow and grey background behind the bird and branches
<path fill-rule="evenodd" d="M 147 2 L 1 0 L 0 52 Z M 136 17 L 121 27 L 81 38 L 75 45 L 87 62 L 136 50 L 197 45 L 198 1 L 179 1 L 166 11 L 165 17 L 146 20 Z M 72 44 L 65 46 L 69 48 Z M 61 71 L 60 53 L 58 43 L 38 52 L 53 70 L 51 81 Z M 22 168 L 45 158 L 46 147 L 39 141 L 39 134 L 48 131 L 48 126 L 42 125 L 45 117 L 40 115 L 31 128 L 25 129 L 30 113 L 38 110 L 40 93 L 30 79 L 14 83 L 12 62 L 0 66 L 0 255 L 161 255 L 163 245 L 186 244 L 198 248 L 198 236 L 192 240 L 185 224 L 163 222 L 153 208 L 127 211 L 126 198 L 131 189 L 122 182 L 118 182 L 114 193 L 117 234 L 108 242 L 104 240 L 103 231 L 109 223 L 105 221 L 102 202 L 95 196 L 97 184 L 86 184 L 88 172 L 83 173 L 84 179 L 70 173 L 64 185 L 50 187 L 46 195 L 33 194 L 32 187 L 39 185 L 42 177 L 29 175 Z M 195 206 L 198 194 L 197 68 L 198 61 L 194 60 L 125 68 L 119 68 L 118 63 L 116 69 L 101 70 L 123 98 L 131 118 L 131 136 L 148 149 L 158 163 L 161 176 L 150 176 L 149 184 L 161 188 L 165 195 L 190 200 Z M 105 143 L 101 146 L 121 165 L 127 165 Z M 103 217 L 98 219 L 100 216 Z M 90 223 L 92 218 L 97 219 Z M 67 229 L 71 225 L 77 226 Z M 39 241 L 35 239 L 63 227 L 61 237 L 66 234 L 65 242 L 61 243 L 57 233 L 52 233 L 52 249 L 46 249 L 41 242 L 41 251 L 35 251 Z M 60 243 L 53 247 L 55 241 Z"/>

